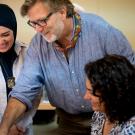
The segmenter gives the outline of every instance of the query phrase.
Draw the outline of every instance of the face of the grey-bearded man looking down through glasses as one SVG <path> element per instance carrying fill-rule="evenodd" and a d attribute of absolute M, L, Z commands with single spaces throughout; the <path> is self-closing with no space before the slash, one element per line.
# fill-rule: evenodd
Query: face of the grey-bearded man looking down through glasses
<path fill-rule="evenodd" d="M 50 15 L 50 13 L 52 14 Z M 45 25 L 38 25 L 46 17 Z M 34 29 L 40 32 L 48 42 L 54 42 L 62 36 L 66 12 L 52 12 L 47 4 L 38 2 L 28 11 L 28 18 L 30 22 L 36 24 Z"/>

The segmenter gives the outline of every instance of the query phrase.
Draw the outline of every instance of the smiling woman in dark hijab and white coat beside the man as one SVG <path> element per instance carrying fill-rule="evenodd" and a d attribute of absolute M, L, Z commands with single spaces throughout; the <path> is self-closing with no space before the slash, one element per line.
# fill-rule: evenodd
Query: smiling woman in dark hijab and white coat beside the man
<path fill-rule="evenodd" d="M 13 10 L 0 4 L 0 121 L 8 96 L 24 61 L 26 45 L 16 41 L 17 22 Z M 32 118 L 39 104 L 41 93 L 34 101 L 33 110 L 26 112 L 11 127 L 9 135 L 32 135 Z"/>

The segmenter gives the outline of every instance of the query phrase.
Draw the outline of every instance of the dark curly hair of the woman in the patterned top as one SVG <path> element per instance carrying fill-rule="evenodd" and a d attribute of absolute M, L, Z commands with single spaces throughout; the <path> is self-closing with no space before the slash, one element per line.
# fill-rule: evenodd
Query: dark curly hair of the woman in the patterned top
<path fill-rule="evenodd" d="M 85 73 L 111 122 L 122 123 L 135 115 L 135 67 L 124 56 L 107 55 L 90 62 Z"/>

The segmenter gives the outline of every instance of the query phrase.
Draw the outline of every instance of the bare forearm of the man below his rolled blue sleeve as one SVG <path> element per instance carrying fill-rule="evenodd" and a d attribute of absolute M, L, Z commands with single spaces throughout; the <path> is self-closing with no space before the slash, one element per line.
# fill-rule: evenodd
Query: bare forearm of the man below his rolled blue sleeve
<path fill-rule="evenodd" d="M 26 105 L 15 98 L 10 98 L 0 124 L 0 135 L 7 135 L 10 127 L 26 110 Z"/>

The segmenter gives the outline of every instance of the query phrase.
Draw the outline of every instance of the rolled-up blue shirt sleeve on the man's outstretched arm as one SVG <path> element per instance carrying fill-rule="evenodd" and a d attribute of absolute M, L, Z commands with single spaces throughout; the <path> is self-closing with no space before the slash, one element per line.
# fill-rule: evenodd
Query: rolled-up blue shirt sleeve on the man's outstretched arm
<path fill-rule="evenodd" d="M 43 86 L 43 73 L 38 60 L 37 49 L 32 46 L 33 41 L 27 51 L 16 85 L 9 94 L 9 97 L 14 97 L 26 104 L 28 109 L 33 108 L 32 102 L 39 95 Z"/>

